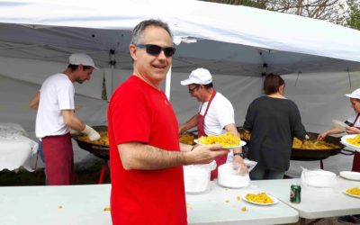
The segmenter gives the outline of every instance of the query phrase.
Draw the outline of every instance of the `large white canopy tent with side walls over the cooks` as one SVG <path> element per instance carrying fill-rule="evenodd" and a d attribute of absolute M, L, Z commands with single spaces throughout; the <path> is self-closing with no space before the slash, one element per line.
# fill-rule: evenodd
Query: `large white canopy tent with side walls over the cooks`
<path fill-rule="evenodd" d="M 171 100 L 179 122 L 197 109 L 179 85 L 196 67 L 210 69 L 215 87 L 234 104 L 238 125 L 261 94 L 263 73 L 284 75 L 286 95 L 311 131 L 345 119 L 351 109 L 343 96 L 360 87 L 360 31 L 292 14 L 193 0 L 16 0 L 0 2 L 0 14 L 0 120 L 22 121 L 27 130 L 33 130 L 35 112 L 25 103 L 79 51 L 102 68 L 76 85 L 80 117 L 105 123 L 106 102 L 97 100 L 103 77 L 110 95 L 130 75 L 131 31 L 148 18 L 165 21 L 175 35 Z"/>

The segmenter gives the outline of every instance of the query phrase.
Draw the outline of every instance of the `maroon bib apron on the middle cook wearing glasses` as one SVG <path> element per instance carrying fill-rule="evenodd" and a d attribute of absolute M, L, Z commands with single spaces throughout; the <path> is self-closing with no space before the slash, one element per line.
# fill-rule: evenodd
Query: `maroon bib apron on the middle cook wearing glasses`
<path fill-rule="evenodd" d="M 210 104 L 212 99 L 215 97 L 216 91 L 214 90 L 213 93 L 211 94 L 208 106 L 206 107 L 205 112 L 203 113 L 203 115 L 200 114 L 200 112 L 198 112 L 197 114 L 197 135 L 198 138 L 201 138 L 202 136 L 207 136 L 205 133 L 205 130 L 203 128 L 203 122 L 205 120 L 205 116 L 208 113 Z M 202 108 L 200 108 L 200 111 L 202 110 Z M 211 181 L 215 178 L 218 178 L 218 166 L 221 166 L 222 164 L 224 164 L 226 162 L 226 159 L 228 158 L 228 155 L 224 155 L 224 156 L 220 156 L 215 158 L 216 161 L 216 168 L 214 170 L 211 171 Z"/>

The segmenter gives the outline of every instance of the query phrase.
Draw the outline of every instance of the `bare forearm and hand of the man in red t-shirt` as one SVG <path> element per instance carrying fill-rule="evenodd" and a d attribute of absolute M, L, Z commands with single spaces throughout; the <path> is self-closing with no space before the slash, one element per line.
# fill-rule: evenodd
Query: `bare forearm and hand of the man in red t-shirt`
<path fill-rule="evenodd" d="M 196 146 L 192 151 L 167 151 L 139 142 L 118 145 L 124 169 L 155 170 L 189 164 L 210 163 L 216 157 L 229 153 L 220 145 Z"/>

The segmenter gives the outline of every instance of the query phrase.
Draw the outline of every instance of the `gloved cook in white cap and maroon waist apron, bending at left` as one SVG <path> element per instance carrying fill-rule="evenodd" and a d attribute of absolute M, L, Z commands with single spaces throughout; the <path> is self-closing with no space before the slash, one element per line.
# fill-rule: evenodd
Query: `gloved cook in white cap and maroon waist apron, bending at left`
<path fill-rule="evenodd" d="M 100 134 L 75 114 L 74 82 L 89 80 L 95 67 L 93 58 L 83 53 L 69 57 L 67 69 L 49 76 L 30 102 L 38 109 L 35 134 L 41 140 L 49 185 L 73 184 L 74 156 L 70 130 L 86 134 L 90 140 Z"/>

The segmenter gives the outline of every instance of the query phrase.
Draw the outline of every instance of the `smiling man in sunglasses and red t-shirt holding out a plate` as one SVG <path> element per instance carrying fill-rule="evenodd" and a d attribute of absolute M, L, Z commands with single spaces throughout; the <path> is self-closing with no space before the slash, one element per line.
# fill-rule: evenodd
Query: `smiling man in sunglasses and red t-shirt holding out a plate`
<path fill-rule="evenodd" d="M 210 163 L 220 145 L 179 145 L 175 112 L 160 89 L 175 53 L 166 23 L 133 30 L 133 73 L 108 109 L 113 224 L 186 224 L 183 165 Z"/>

